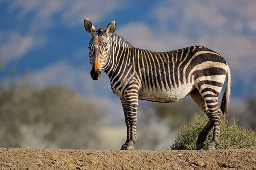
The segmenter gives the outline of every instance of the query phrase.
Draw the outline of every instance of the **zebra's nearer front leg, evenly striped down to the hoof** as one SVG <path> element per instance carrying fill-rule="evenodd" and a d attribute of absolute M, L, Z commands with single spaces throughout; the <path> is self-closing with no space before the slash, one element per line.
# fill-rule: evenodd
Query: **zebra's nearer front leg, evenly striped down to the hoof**
<path fill-rule="evenodd" d="M 137 108 L 138 108 L 137 93 L 125 94 L 125 103 L 126 103 L 126 110 L 127 110 L 127 114 L 126 114 L 127 116 L 125 116 L 125 123 L 127 126 L 127 140 L 125 144 L 122 145 L 121 150 L 133 150 L 134 149 L 133 145 L 137 142 L 137 135 L 136 135 Z M 128 129 L 129 129 L 129 132 L 128 132 Z"/>

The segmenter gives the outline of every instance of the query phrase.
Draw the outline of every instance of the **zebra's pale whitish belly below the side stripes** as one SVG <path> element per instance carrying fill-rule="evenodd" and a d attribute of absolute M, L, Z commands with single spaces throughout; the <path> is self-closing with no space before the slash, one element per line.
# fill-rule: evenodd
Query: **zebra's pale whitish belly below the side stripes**
<path fill-rule="evenodd" d="M 139 99 L 162 103 L 176 102 L 186 97 L 194 89 L 194 85 L 183 85 L 178 88 L 163 89 L 161 91 L 147 89 L 139 91 Z"/>

